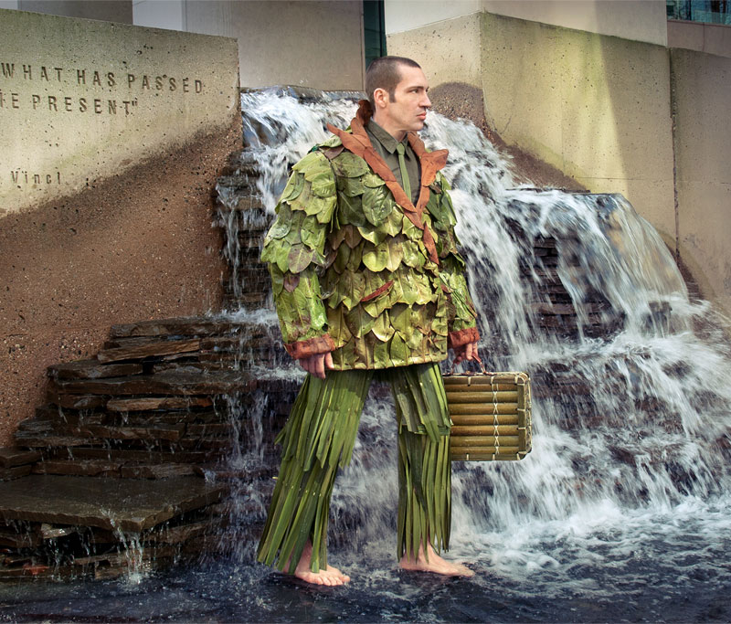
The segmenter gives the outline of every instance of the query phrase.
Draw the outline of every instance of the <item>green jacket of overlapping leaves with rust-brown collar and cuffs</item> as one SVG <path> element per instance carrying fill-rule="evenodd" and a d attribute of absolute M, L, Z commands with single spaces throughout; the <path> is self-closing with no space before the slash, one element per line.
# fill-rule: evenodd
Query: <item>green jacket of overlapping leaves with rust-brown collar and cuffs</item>
<path fill-rule="evenodd" d="M 295 164 L 264 239 L 285 347 L 294 358 L 332 352 L 335 370 L 440 362 L 475 342 L 476 312 L 457 250 L 447 150 L 414 132 L 421 187 L 414 206 L 365 132 L 349 131 Z"/>

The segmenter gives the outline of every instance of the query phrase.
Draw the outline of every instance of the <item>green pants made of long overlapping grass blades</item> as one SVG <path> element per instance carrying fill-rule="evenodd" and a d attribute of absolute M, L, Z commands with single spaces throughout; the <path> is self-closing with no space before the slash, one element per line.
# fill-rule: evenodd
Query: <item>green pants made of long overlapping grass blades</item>
<path fill-rule="evenodd" d="M 450 417 L 438 364 L 307 375 L 277 437 L 281 468 L 258 559 L 294 572 L 308 539 L 311 569 L 327 567 L 327 523 L 338 468 L 350 463 L 371 381 L 391 386 L 398 427 L 397 556 L 450 543 Z"/>

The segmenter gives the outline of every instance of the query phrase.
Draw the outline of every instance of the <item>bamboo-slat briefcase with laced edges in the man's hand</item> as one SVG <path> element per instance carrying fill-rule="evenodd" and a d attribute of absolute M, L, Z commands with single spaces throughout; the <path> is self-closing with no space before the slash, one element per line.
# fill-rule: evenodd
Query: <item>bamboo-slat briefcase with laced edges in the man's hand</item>
<path fill-rule="evenodd" d="M 444 375 L 453 461 L 522 460 L 531 449 L 526 373 Z"/>

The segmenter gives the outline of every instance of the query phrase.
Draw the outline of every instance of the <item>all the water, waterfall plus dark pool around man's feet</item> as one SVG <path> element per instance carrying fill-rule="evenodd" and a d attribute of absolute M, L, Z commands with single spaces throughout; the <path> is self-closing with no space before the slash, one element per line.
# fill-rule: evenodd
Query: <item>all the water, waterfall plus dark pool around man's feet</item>
<path fill-rule="evenodd" d="M 323 140 L 324 122 L 344 127 L 354 108 L 287 92 L 242 95 L 270 210 L 288 165 Z M 445 173 L 483 354 L 534 383 L 531 454 L 454 464 L 450 555 L 477 575 L 397 570 L 396 432 L 376 386 L 334 490 L 330 559 L 352 576 L 349 586 L 304 587 L 254 565 L 254 541 L 236 542 L 243 531 L 228 534 L 228 556 L 195 566 L 0 585 L 0 621 L 731 619 L 731 357 L 715 312 L 689 299 L 657 233 L 621 196 L 514 188 L 510 165 L 471 125 L 433 115 L 424 134 L 428 145 L 450 147 Z M 234 264 L 240 253 L 226 249 Z M 276 332 L 270 313 L 238 313 Z M 232 397 L 232 426 L 260 438 L 260 421 L 237 405 Z M 248 452 L 231 457 L 232 471 L 262 462 L 260 448 Z M 261 499 L 242 489 L 240 510 L 261 514 Z"/>

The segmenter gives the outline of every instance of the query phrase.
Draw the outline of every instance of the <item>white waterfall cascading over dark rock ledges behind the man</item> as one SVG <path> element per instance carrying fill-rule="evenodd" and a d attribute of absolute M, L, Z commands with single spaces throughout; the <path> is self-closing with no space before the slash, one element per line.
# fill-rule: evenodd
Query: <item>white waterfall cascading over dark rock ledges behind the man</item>
<path fill-rule="evenodd" d="M 267 90 L 243 93 L 241 108 L 273 214 L 288 166 L 326 138 L 325 123 L 347 126 L 355 102 Z M 516 582 L 532 575 L 546 596 L 616 596 L 601 578 L 618 571 L 715 578 L 731 525 L 731 359 L 712 307 L 689 300 L 662 239 L 623 197 L 518 186 L 468 122 L 430 112 L 421 136 L 450 150 L 483 358 L 527 371 L 535 388 L 525 460 L 453 464 L 453 553 Z M 545 240 L 555 249 L 540 256 Z M 546 329 L 546 311 L 564 309 L 570 323 Z M 273 316 L 259 316 L 271 331 Z M 374 387 L 335 485 L 333 534 L 346 534 L 347 552 L 394 550 L 395 441 L 390 397 Z"/>

